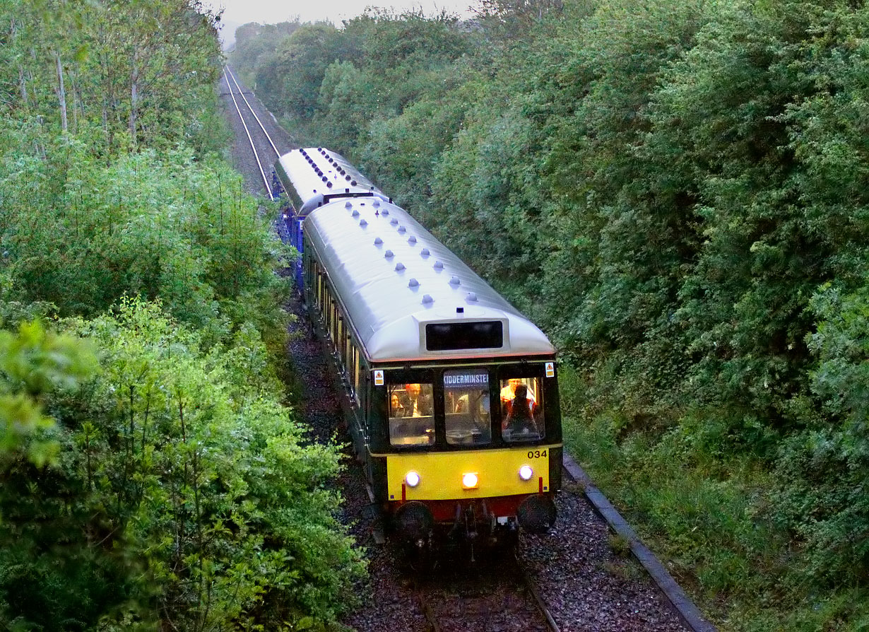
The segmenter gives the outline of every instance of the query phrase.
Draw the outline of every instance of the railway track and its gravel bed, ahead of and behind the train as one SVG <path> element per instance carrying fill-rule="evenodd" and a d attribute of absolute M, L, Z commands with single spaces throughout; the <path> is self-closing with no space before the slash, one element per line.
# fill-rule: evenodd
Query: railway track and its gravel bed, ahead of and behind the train
<path fill-rule="evenodd" d="M 264 187 L 273 199 L 273 156 L 298 145 L 253 94 L 242 89 L 229 67 L 221 88 L 235 132 L 236 167 L 252 192 L 262 194 Z M 285 227 L 278 230 L 285 232 Z M 295 336 L 291 354 L 306 383 L 303 414 L 314 440 L 328 441 L 341 423 L 339 395 L 328 379 L 332 360 L 322 356 L 315 343 L 301 301 L 295 299 L 290 307 L 299 316 L 294 327 L 302 334 Z M 353 629 L 395 632 L 713 631 L 579 466 L 566 457 L 565 468 L 577 482 L 564 485 L 559 522 L 547 536 L 521 536 L 515 558 L 470 567 L 452 564 L 421 574 L 402 569 L 401 555 L 391 543 L 370 547 L 371 581 L 360 587 L 362 608 L 344 623 Z M 370 508 L 364 476 L 353 469 L 348 468 L 339 482 L 348 504 L 345 522 L 360 543 L 372 544 L 378 541 L 377 521 L 366 510 Z M 613 531 L 627 539 L 639 563 L 614 554 L 608 543 Z"/>

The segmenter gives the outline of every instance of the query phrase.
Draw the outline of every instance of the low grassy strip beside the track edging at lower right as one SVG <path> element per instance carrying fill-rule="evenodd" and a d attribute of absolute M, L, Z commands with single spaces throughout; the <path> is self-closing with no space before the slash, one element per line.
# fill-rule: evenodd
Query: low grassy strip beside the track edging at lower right
<path fill-rule="evenodd" d="M 644 429 L 582 406 L 576 376 L 560 378 L 567 451 L 722 632 L 869 632 L 869 591 L 813 589 L 801 572 L 760 462 L 709 454 L 684 422 Z"/>

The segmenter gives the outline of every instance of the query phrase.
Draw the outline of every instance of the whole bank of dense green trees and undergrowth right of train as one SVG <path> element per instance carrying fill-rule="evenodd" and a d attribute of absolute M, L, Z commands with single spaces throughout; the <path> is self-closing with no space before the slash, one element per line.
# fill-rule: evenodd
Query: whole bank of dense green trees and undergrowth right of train
<path fill-rule="evenodd" d="M 723 629 L 856 630 L 867 32 L 845 0 L 490 0 L 242 70 L 554 337 L 570 448 Z"/>

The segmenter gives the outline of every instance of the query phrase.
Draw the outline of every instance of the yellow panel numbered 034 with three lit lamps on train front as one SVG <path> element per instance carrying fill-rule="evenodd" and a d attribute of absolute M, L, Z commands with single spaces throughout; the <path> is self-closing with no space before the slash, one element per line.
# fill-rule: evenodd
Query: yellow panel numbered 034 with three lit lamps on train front
<path fill-rule="evenodd" d="M 488 498 L 549 491 L 549 446 L 534 449 L 490 449 L 456 452 L 417 452 L 388 455 L 387 480 L 389 500 L 449 500 L 454 498 Z M 523 481 L 519 469 L 531 466 L 533 474 Z M 406 484 L 408 472 L 420 475 L 413 488 Z M 464 489 L 462 476 L 474 472 L 479 483 Z"/>

